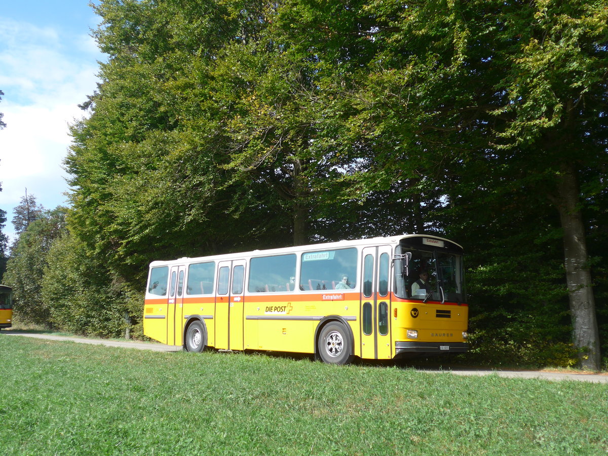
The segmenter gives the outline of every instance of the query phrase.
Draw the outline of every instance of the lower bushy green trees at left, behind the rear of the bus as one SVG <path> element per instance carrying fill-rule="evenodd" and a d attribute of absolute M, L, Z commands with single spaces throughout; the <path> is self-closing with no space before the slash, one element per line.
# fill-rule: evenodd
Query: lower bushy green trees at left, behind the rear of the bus
<path fill-rule="evenodd" d="M 112 279 L 98 257 L 66 229 L 66 209 L 30 221 L 12 249 L 5 280 L 13 287 L 15 318 L 77 334 L 119 336 L 141 329 L 142 299 Z"/>

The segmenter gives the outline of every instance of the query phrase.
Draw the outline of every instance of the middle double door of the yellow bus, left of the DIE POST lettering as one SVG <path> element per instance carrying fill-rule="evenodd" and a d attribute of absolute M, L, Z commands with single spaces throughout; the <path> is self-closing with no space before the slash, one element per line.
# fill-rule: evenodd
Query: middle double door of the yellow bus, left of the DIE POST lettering
<path fill-rule="evenodd" d="M 245 260 L 220 261 L 215 298 L 215 348 L 243 350 Z"/>

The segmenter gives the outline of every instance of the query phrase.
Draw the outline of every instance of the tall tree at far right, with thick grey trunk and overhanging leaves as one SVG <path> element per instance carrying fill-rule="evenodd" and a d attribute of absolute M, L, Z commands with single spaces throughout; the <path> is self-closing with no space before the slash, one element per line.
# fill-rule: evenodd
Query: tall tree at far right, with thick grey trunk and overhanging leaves
<path fill-rule="evenodd" d="M 376 151 L 384 172 L 431 176 L 452 205 L 489 192 L 476 201 L 500 210 L 522 189 L 533 193 L 521 200 L 530 208 L 552 204 L 573 340 L 581 364 L 598 368 L 578 182 L 587 171 L 601 181 L 606 167 L 604 2 L 432 1 L 404 9 L 389 1 L 371 9 L 381 52 L 356 97 L 361 134 L 398 157 Z"/>

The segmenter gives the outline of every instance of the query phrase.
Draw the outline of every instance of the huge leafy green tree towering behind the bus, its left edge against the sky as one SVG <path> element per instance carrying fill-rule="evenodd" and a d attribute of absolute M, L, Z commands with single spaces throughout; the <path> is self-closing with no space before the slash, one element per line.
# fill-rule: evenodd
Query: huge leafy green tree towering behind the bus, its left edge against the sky
<path fill-rule="evenodd" d="M 150 243 L 163 254 L 164 238 L 173 255 L 237 249 L 238 239 L 244 249 L 284 246 L 305 243 L 307 227 L 338 213 L 351 218 L 353 195 L 331 182 L 364 162 L 323 140 L 330 70 L 280 41 L 284 29 L 269 29 L 288 16 L 237 1 L 106 1 L 96 10 L 110 58 L 66 160 L 72 232 L 94 252 L 132 271 L 151 259 Z M 338 56 L 340 46 L 331 40 Z"/>

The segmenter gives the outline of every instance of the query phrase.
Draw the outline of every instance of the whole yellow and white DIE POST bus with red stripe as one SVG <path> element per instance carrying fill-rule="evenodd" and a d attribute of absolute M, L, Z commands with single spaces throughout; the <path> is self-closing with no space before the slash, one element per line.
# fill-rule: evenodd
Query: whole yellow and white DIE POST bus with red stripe
<path fill-rule="evenodd" d="M 153 261 L 152 339 L 188 351 L 287 351 L 331 364 L 468 349 L 463 249 L 400 235 Z"/>

